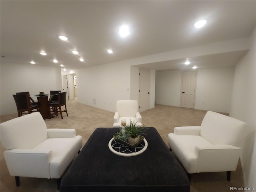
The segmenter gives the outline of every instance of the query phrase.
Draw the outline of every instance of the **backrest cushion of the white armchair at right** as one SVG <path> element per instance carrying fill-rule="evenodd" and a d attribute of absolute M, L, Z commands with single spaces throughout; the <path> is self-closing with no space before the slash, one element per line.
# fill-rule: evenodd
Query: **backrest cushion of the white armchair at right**
<path fill-rule="evenodd" d="M 212 144 L 240 146 L 246 123 L 240 120 L 208 111 L 201 125 L 200 135 Z"/>

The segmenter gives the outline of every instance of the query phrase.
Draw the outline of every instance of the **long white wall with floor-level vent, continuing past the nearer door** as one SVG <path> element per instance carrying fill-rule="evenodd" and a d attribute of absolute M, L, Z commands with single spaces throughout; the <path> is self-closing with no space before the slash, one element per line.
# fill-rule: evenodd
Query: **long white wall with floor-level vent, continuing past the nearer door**
<path fill-rule="evenodd" d="M 139 100 L 139 68 L 128 61 L 75 70 L 78 102 L 116 111 L 117 100 Z M 150 108 L 154 108 L 155 70 L 150 70 Z M 94 103 L 93 99 L 96 99 Z"/>

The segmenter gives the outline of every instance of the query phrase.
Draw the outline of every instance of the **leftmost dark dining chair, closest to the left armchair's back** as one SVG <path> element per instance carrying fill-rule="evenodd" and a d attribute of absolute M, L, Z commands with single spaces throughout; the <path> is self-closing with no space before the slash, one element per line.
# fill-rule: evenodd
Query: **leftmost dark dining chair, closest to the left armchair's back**
<path fill-rule="evenodd" d="M 15 103 L 16 103 L 16 107 L 17 107 L 17 111 L 18 111 L 18 117 L 22 116 L 22 114 L 30 114 L 32 112 L 32 110 L 39 111 L 39 104 L 35 103 L 35 104 L 31 104 L 30 103 L 30 96 L 29 94 L 18 94 L 18 95 L 12 95 Z M 27 113 L 24 113 L 26 112 Z"/>

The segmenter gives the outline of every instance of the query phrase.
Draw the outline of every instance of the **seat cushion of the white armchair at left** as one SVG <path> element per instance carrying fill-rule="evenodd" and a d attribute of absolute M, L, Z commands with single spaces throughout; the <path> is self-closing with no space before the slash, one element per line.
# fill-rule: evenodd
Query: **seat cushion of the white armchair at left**
<path fill-rule="evenodd" d="M 49 138 L 33 149 L 52 151 L 50 177 L 60 178 L 80 148 L 82 148 L 82 137 L 75 136 L 74 138 Z"/>

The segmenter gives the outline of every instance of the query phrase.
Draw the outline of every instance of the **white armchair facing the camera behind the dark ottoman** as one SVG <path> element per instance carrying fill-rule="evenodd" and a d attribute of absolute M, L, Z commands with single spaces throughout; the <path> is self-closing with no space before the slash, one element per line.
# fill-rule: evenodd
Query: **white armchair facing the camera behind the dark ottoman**
<path fill-rule="evenodd" d="M 130 121 L 136 123 L 136 126 L 142 126 L 142 118 L 138 111 L 138 101 L 136 100 L 118 100 L 116 101 L 116 113 L 114 115 L 113 127 L 121 127 L 121 120 L 126 120 L 126 125 Z"/>

